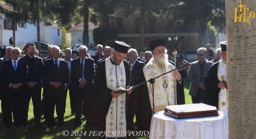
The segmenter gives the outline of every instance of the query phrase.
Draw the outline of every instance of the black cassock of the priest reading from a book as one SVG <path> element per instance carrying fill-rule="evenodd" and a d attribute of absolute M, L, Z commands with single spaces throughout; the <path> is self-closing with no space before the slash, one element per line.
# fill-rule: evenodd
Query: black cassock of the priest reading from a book
<path fill-rule="evenodd" d="M 111 62 L 114 64 L 114 62 L 111 59 Z M 125 66 L 125 73 L 126 73 L 126 86 L 128 86 L 128 82 L 129 82 L 129 76 L 130 76 L 130 69 L 129 69 L 129 64 L 126 61 L 123 61 L 123 64 Z M 97 68 L 96 68 L 96 86 L 95 86 L 95 90 L 98 93 L 99 96 L 99 100 L 96 100 L 100 103 L 100 130 L 101 131 L 105 131 L 105 124 L 106 124 L 106 115 L 108 113 L 109 107 L 110 107 L 110 103 L 112 100 L 112 96 L 111 96 L 111 89 L 109 89 L 106 86 L 106 68 L 105 68 L 105 60 L 100 61 L 97 64 Z M 131 81 L 132 82 L 132 81 Z M 127 97 L 129 95 L 126 93 L 126 103 L 127 103 Z M 127 107 L 126 107 L 127 110 Z M 127 113 L 126 113 L 127 115 Z"/>

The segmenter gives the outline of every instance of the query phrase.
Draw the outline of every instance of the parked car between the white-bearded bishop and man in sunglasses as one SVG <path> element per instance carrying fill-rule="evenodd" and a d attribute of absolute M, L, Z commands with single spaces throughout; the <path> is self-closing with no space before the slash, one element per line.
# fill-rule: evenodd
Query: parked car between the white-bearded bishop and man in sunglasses
<path fill-rule="evenodd" d="M 188 62 L 194 62 L 197 59 L 197 50 L 185 50 L 183 52 L 177 53 L 176 54 L 176 62 L 179 61 L 180 55 L 184 57 Z M 173 61 L 173 55 L 169 57 L 170 60 Z"/>

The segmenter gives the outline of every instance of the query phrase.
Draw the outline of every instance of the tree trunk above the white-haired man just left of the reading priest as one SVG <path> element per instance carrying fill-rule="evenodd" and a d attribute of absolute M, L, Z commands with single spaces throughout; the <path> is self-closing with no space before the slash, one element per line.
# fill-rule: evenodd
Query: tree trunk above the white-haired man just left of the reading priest
<path fill-rule="evenodd" d="M 88 18 L 89 18 L 89 2 L 88 0 L 84 1 L 84 31 L 83 31 L 83 44 L 85 46 L 89 43 L 89 37 L 88 37 Z"/>

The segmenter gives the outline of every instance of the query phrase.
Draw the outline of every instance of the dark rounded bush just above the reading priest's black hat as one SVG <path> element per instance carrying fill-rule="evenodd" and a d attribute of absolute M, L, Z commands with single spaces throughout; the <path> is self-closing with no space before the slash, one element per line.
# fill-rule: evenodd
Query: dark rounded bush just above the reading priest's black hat
<path fill-rule="evenodd" d="M 117 31 L 113 28 L 95 28 L 93 30 L 93 41 L 96 44 L 104 44 L 108 39 L 115 39 Z"/>

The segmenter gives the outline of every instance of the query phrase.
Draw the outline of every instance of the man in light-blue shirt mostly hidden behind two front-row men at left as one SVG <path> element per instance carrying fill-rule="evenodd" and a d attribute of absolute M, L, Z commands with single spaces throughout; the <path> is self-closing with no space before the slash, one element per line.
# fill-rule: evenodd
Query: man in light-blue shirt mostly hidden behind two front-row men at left
<path fill-rule="evenodd" d="M 71 71 L 71 61 L 73 60 L 71 57 L 72 57 L 72 49 L 71 48 L 65 49 L 65 59 L 64 60 L 68 62 L 69 71 Z M 75 92 L 76 92 L 76 90 L 74 90 L 74 87 L 72 86 L 72 81 L 70 78 L 68 78 L 68 81 L 66 83 L 65 104 L 66 104 L 68 90 L 69 90 L 71 114 L 75 115 Z M 65 108 L 66 108 L 66 106 L 65 106 Z"/>

